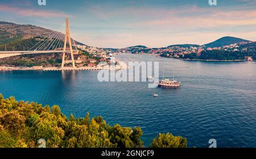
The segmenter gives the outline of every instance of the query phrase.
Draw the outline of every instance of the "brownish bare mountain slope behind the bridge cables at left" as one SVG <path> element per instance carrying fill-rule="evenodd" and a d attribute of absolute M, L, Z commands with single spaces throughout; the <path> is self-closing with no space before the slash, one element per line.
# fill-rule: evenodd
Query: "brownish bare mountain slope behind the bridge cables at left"
<path fill-rule="evenodd" d="M 30 24 L 20 25 L 10 22 L 0 22 L 0 45 L 32 37 L 46 37 L 51 32 L 53 32 L 51 29 Z M 77 42 L 77 44 L 81 45 L 82 43 Z"/>

